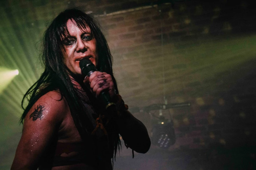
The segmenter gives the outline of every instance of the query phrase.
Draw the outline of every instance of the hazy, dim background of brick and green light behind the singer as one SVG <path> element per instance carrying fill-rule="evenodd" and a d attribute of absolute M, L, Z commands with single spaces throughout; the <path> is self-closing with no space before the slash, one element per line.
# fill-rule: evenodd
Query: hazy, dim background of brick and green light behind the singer
<path fill-rule="evenodd" d="M 20 72 L 0 91 L 0 169 L 10 168 L 21 136 L 22 96 L 43 70 L 38 59 L 43 33 L 70 7 L 82 7 L 99 21 L 120 94 L 151 139 L 154 127 L 173 122 L 174 145 L 153 144 L 134 159 L 123 146 L 114 169 L 256 168 L 256 15 L 250 1 L 6 0 L 0 5 L 0 71 Z M 190 106 L 176 107 L 179 103 Z"/>

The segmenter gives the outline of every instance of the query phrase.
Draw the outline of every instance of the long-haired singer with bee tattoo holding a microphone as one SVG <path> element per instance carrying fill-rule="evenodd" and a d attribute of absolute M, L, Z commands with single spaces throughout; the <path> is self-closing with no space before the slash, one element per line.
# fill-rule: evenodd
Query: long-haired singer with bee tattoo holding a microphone
<path fill-rule="evenodd" d="M 22 101 L 12 170 L 111 170 L 121 143 L 132 153 L 148 151 L 147 129 L 118 94 L 108 44 L 90 15 L 61 12 L 44 33 L 41 57 L 44 72 Z M 85 58 L 96 68 L 89 76 L 79 66 Z M 102 93 L 114 109 L 102 104 Z"/>

